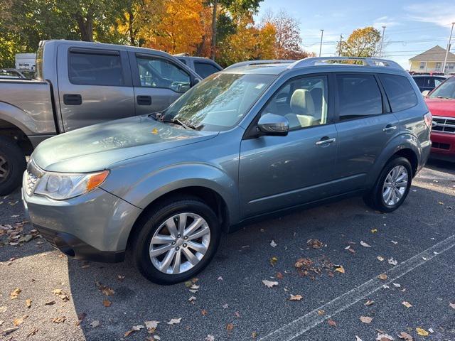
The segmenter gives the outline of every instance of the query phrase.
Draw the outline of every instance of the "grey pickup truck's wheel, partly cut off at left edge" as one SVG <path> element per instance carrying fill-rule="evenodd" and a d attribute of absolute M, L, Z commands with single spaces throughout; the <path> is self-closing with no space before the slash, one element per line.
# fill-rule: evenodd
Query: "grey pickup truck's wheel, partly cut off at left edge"
<path fill-rule="evenodd" d="M 0 136 L 0 195 L 7 195 L 21 185 L 26 166 L 22 149 L 13 140 Z"/>

